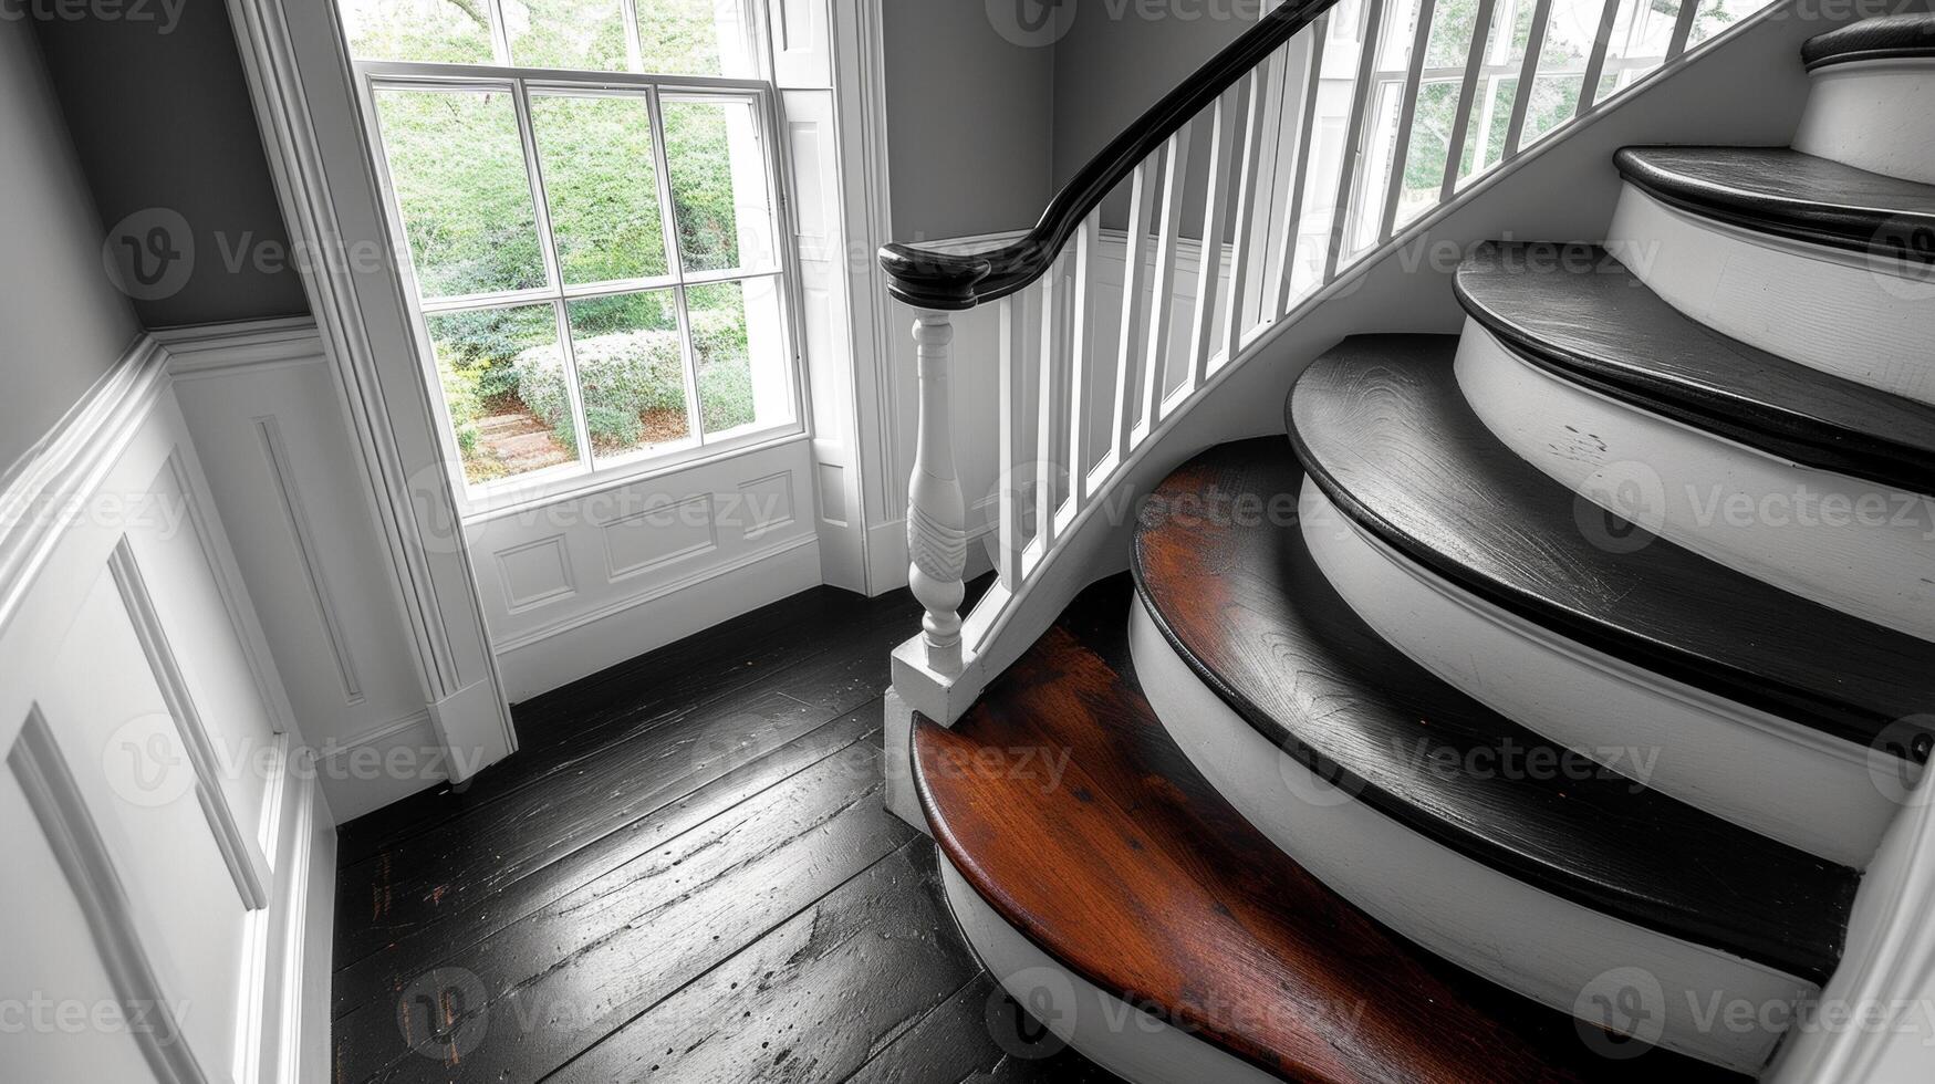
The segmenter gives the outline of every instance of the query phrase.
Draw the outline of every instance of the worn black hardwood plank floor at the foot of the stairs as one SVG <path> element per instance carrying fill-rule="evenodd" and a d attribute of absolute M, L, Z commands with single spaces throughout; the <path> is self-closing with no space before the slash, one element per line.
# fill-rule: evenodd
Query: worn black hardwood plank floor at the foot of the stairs
<path fill-rule="evenodd" d="M 979 968 L 880 805 L 906 594 L 813 590 L 517 708 L 341 830 L 335 1080 L 1113 1080 Z"/>

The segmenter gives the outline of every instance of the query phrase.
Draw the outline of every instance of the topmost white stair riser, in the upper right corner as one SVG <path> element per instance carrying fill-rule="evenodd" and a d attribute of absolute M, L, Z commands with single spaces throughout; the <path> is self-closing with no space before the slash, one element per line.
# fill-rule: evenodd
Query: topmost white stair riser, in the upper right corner
<path fill-rule="evenodd" d="M 1935 64 L 1869 60 L 1813 74 L 1794 149 L 1935 184 Z"/>

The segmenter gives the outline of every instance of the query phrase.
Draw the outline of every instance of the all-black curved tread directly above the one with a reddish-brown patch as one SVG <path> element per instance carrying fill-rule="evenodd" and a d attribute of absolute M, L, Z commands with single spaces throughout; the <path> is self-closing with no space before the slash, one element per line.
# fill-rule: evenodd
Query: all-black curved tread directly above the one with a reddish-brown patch
<path fill-rule="evenodd" d="M 1511 453 L 1457 387 L 1449 335 L 1360 335 L 1291 391 L 1310 476 L 1413 561 L 1560 635 L 1823 734 L 1900 751 L 1935 708 L 1935 643 L 1664 538 L 1604 546 L 1598 509 Z M 1890 730 L 1894 728 L 1894 730 Z M 1887 738 L 1887 739 L 1885 739 Z M 1925 759 L 1925 741 L 1914 741 Z M 1908 755 L 1906 751 L 1902 755 Z"/>

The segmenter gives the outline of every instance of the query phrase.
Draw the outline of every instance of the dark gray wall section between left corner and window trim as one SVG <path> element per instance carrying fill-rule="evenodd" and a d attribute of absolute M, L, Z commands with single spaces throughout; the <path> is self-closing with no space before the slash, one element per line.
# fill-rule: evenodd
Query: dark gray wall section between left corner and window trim
<path fill-rule="evenodd" d="M 145 232 L 159 207 L 194 238 L 186 281 L 135 298 L 141 323 L 308 312 L 226 8 L 147 10 L 157 17 L 37 23 L 103 228 L 147 213 L 137 219 Z"/>

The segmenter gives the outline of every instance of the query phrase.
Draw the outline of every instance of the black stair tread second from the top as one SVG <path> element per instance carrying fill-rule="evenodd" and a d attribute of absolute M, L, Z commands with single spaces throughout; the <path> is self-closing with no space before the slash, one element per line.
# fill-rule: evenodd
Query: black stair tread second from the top
<path fill-rule="evenodd" d="M 1916 263 L 1935 261 L 1935 186 L 1788 147 L 1623 147 L 1620 172 L 1651 196 L 1763 234 Z"/>

